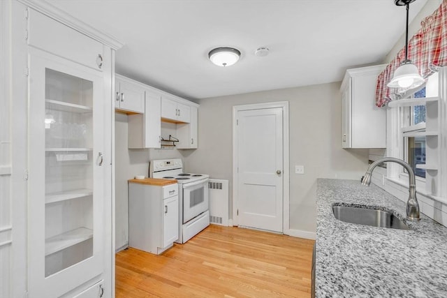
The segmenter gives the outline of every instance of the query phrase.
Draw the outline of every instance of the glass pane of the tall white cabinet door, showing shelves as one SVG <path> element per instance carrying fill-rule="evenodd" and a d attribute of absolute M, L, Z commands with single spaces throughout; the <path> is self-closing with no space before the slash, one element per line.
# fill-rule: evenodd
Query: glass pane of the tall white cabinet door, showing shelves
<path fill-rule="evenodd" d="M 93 255 L 93 87 L 45 69 L 45 277 Z"/>

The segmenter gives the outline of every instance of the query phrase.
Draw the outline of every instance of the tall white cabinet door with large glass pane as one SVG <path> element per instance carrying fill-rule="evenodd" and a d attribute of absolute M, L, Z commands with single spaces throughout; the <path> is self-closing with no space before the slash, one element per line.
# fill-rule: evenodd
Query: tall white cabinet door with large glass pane
<path fill-rule="evenodd" d="M 101 72 L 29 54 L 28 289 L 59 297 L 103 273 L 110 126 Z"/>

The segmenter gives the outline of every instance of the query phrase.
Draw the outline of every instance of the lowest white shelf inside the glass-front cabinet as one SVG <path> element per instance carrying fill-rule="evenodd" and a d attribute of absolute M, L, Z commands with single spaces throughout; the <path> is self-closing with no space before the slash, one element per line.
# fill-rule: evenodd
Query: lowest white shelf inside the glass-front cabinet
<path fill-rule="evenodd" d="M 93 230 L 87 228 L 78 228 L 45 239 L 45 256 L 51 255 L 52 253 L 57 253 L 58 251 L 61 251 L 65 248 L 91 238 L 93 238 Z"/>

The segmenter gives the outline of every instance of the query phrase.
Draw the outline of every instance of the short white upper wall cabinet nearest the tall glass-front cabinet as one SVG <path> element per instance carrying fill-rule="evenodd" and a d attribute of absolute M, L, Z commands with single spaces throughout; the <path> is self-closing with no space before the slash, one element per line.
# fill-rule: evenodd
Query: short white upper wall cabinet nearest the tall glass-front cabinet
<path fill-rule="evenodd" d="M 145 112 L 145 88 L 122 75 L 115 78 L 115 110 L 127 114 Z"/>

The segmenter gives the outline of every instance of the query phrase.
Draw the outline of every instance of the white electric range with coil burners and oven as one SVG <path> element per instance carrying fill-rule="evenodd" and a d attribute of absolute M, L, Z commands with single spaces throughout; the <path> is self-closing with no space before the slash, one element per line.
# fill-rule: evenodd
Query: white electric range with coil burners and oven
<path fill-rule="evenodd" d="M 179 186 L 179 239 L 183 244 L 210 225 L 207 174 L 183 172 L 179 158 L 151 161 L 149 177 L 175 179 Z"/>

